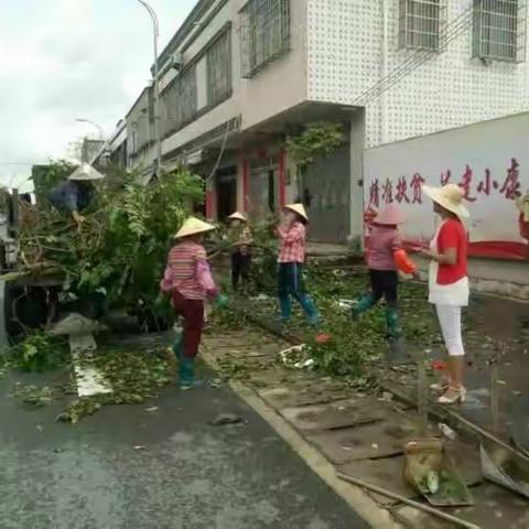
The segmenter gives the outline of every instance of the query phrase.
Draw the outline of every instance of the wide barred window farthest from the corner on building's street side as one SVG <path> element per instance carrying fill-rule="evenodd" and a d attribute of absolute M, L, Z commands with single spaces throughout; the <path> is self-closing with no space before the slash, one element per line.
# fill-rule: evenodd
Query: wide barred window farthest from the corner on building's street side
<path fill-rule="evenodd" d="M 197 111 L 196 65 L 188 67 L 166 88 L 161 97 L 162 133 L 181 129 Z"/>

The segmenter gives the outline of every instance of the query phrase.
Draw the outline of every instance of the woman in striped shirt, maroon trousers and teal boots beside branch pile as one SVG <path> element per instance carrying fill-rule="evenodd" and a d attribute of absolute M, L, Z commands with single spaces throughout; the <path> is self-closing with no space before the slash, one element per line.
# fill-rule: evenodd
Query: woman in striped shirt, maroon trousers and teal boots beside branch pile
<path fill-rule="evenodd" d="M 215 285 L 202 238 L 215 226 L 190 217 L 175 235 L 179 244 L 171 249 L 161 283 L 162 292 L 171 293 L 173 307 L 184 320 L 183 334 L 176 337 L 173 352 L 180 363 L 182 389 L 195 386 L 195 358 L 204 328 L 204 301 L 215 298 L 225 300 Z"/>

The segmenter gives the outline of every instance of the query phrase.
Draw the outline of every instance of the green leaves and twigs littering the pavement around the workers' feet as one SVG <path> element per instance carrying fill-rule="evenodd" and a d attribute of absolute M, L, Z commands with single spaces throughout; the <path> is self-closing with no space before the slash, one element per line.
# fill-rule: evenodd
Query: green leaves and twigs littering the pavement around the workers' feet
<path fill-rule="evenodd" d="M 273 274 L 276 267 L 269 269 Z M 321 332 L 330 339 L 319 339 L 309 327 L 294 303 L 294 316 L 288 331 L 299 337 L 307 347 L 303 352 L 305 365 L 320 369 L 326 375 L 361 378 L 366 366 L 376 363 L 387 350 L 385 338 L 384 306 L 378 306 L 353 322 L 347 302 L 358 300 L 368 288 L 367 274 L 357 270 L 330 269 L 325 266 L 310 267 L 306 285 L 322 314 Z M 401 326 L 408 343 L 429 349 L 441 343 L 439 327 L 431 306 L 427 302 L 427 287 L 419 283 L 402 282 L 400 285 Z M 345 302 L 345 303 L 344 303 Z M 233 310 L 218 313 L 214 319 L 216 328 L 244 328 L 251 320 L 267 324 L 278 321 L 276 292 L 270 290 L 246 299 L 235 299 Z M 296 365 L 303 364 L 300 361 Z"/>

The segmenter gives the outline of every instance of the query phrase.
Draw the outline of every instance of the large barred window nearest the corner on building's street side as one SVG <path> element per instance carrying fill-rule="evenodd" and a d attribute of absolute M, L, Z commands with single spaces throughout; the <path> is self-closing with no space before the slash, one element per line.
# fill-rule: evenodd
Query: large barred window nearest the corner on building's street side
<path fill-rule="evenodd" d="M 290 0 L 249 0 L 240 12 L 242 77 L 253 77 L 289 48 Z"/>

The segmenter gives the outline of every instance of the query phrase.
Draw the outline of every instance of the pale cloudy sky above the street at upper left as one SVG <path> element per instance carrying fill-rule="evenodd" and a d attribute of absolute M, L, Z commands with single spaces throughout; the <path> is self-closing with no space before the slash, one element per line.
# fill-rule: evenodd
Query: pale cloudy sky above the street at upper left
<path fill-rule="evenodd" d="M 160 50 L 197 0 L 149 0 Z M 0 0 L 0 184 L 28 188 L 32 163 L 110 136 L 149 83 L 152 24 L 137 0 Z"/>

